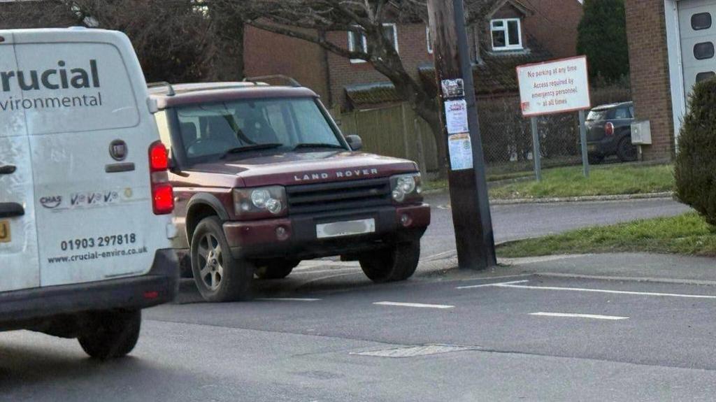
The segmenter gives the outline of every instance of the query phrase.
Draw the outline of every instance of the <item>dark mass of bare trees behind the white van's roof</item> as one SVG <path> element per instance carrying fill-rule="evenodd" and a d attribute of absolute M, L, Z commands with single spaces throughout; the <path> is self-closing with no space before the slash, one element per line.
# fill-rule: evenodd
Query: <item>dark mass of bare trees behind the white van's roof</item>
<path fill-rule="evenodd" d="M 89 26 L 132 40 L 147 81 L 243 78 L 243 19 L 195 0 L 0 3 L 0 28 Z M 236 24 L 235 24 L 236 23 Z"/>

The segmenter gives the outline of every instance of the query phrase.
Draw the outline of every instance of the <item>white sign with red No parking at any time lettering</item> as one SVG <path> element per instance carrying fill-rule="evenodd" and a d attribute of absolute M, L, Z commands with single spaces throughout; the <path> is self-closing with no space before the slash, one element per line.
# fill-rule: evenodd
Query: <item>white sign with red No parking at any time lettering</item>
<path fill-rule="evenodd" d="M 589 109 L 586 57 L 517 67 L 524 117 Z"/>

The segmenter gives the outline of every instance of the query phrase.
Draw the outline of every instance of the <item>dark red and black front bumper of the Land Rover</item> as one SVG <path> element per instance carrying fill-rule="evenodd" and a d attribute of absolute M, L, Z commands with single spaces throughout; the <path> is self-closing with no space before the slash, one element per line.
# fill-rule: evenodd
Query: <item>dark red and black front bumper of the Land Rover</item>
<path fill-rule="evenodd" d="M 407 215 L 406 223 L 401 217 Z M 316 225 L 321 223 L 373 218 L 375 232 L 365 235 L 319 239 Z M 226 240 L 234 258 L 256 260 L 286 258 L 310 260 L 330 255 L 350 255 L 376 250 L 397 242 L 420 240 L 430 225 L 430 206 L 405 205 L 298 215 L 274 220 L 226 222 Z M 284 227 L 279 238 L 276 230 Z"/>

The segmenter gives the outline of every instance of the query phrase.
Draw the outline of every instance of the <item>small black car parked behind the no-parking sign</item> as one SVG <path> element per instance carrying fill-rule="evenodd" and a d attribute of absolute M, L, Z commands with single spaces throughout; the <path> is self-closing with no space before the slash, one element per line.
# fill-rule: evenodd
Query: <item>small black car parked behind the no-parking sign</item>
<path fill-rule="evenodd" d="M 621 162 L 637 160 L 637 147 L 632 144 L 634 103 L 604 104 L 591 109 L 586 118 L 589 161 L 599 163 L 616 155 Z"/>

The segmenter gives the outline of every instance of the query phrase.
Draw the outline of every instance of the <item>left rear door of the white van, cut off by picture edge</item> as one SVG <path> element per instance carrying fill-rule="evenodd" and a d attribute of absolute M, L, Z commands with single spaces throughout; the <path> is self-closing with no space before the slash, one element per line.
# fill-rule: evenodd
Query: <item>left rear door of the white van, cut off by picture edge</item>
<path fill-rule="evenodd" d="M 17 69 L 13 35 L 0 31 L 0 74 Z M 22 94 L 0 82 L 0 292 L 37 288 L 39 262 L 30 148 L 23 110 L 12 109 Z"/>

